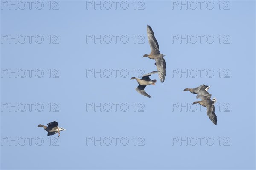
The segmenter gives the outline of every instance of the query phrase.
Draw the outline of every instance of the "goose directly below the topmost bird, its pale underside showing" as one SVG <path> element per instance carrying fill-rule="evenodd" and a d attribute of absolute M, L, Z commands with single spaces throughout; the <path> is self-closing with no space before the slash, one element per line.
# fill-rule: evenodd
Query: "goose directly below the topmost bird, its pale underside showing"
<path fill-rule="evenodd" d="M 142 76 L 141 79 L 138 79 L 136 77 L 131 77 L 131 79 L 136 79 L 136 81 L 139 83 L 139 86 L 135 89 L 139 94 L 142 94 L 147 97 L 151 97 L 149 94 L 147 94 L 147 92 L 144 89 L 147 85 L 155 85 L 157 80 L 149 79 L 149 76 L 151 76 L 151 74 L 155 74 L 155 73 L 158 73 L 158 71 L 153 71 L 151 73 L 145 74 Z"/>

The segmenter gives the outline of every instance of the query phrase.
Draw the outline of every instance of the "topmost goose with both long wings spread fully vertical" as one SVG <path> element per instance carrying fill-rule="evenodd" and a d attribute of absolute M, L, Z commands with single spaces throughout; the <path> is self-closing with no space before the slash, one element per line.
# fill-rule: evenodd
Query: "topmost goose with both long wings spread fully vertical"
<path fill-rule="evenodd" d="M 147 26 L 147 34 L 148 34 L 148 42 L 151 48 L 151 53 L 145 54 L 143 57 L 148 57 L 156 61 L 155 65 L 157 66 L 157 71 L 159 72 L 158 73 L 159 79 L 161 82 L 164 82 L 166 77 L 166 62 L 163 57 L 165 55 L 160 53 L 157 39 L 155 38 L 154 32 L 149 25 Z"/>

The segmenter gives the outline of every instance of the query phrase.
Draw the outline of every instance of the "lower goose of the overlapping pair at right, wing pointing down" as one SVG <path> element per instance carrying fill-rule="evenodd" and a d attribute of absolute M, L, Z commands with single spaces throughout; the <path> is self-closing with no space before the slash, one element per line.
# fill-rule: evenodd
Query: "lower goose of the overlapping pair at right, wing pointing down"
<path fill-rule="evenodd" d="M 214 104 L 217 101 L 216 98 L 213 98 L 212 100 L 209 98 L 205 99 L 204 97 L 199 97 L 199 98 L 201 98 L 202 100 L 193 102 L 193 105 L 199 103 L 200 105 L 206 107 L 207 116 L 212 121 L 212 123 L 214 123 L 214 125 L 217 125 L 217 116 L 215 114 L 215 107 L 214 107 Z"/>

